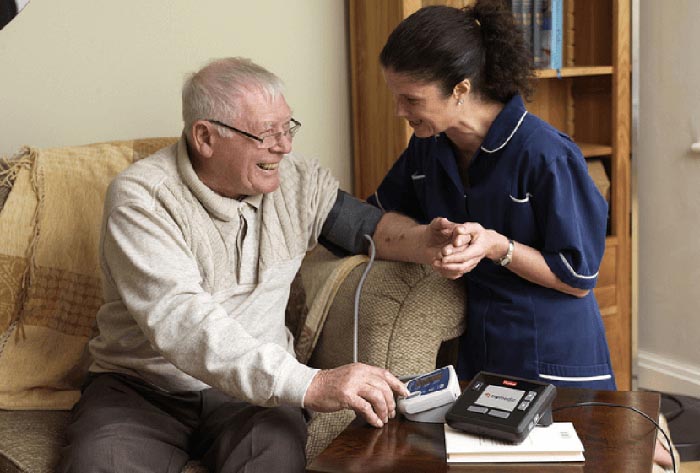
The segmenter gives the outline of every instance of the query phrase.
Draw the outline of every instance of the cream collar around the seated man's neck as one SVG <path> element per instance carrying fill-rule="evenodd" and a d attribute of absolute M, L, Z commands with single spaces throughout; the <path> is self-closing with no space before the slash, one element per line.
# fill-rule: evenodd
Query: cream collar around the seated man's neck
<path fill-rule="evenodd" d="M 187 153 L 187 141 L 183 135 L 177 144 L 177 169 L 185 185 L 201 202 L 204 208 L 219 220 L 230 221 L 238 218 L 240 210 L 246 205 L 258 209 L 262 202 L 262 194 L 248 196 L 237 200 L 217 194 L 206 186 L 197 176 Z"/>

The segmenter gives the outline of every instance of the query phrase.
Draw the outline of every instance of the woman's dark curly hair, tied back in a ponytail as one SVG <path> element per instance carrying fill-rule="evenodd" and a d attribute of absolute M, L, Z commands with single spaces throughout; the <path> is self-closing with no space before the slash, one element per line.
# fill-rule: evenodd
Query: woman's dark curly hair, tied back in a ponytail
<path fill-rule="evenodd" d="M 421 8 L 389 35 L 379 61 L 416 80 L 437 82 L 446 96 L 465 78 L 478 96 L 501 103 L 532 91 L 531 54 L 502 0 Z"/>

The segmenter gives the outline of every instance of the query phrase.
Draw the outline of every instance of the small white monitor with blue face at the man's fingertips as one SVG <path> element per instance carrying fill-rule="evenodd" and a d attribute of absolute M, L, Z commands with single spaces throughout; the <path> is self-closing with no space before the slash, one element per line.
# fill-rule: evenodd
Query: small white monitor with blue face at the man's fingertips
<path fill-rule="evenodd" d="M 399 412 L 415 422 L 445 422 L 445 413 L 461 393 L 452 365 L 410 379 L 406 389 L 409 395 L 396 404 Z"/>

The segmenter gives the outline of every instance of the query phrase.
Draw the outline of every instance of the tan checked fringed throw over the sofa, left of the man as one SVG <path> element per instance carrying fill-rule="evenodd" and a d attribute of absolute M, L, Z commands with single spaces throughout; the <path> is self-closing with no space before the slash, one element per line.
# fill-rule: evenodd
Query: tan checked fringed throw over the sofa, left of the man
<path fill-rule="evenodd" d="M 104 193 L 135 159 L 174 138 L 24 148 L 0 212 L 0 408 L 68 409 L 100 306 Z M 29 165 L 27 165 L 29 163 Z"/>

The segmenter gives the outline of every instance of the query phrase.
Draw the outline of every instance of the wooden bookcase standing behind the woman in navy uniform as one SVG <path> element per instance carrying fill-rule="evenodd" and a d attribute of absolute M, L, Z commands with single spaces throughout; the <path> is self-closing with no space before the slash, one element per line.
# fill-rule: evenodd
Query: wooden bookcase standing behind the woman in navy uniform
<path fill-rule="evenodd" d="M 412 134 L 381 73 L 379 53 L 419 8 L 471 0 L 350 0 L 354 192 L 369 196 Z M 618 388 L 631 388 L 630 0 L 565 0 L 564 67 L 537 71 L 530 112 L 569 134 L 610 179 L 606 251 L 594 289 Z"/>

